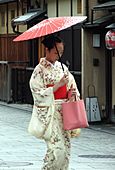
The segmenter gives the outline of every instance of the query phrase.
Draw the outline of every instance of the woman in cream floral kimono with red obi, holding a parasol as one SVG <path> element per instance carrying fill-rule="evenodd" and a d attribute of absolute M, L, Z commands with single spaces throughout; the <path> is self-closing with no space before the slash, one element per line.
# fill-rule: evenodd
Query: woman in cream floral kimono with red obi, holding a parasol
<path fill-rule="evenodd" d="M 37 113 L 45 127 L 40 137 L 47 144 L 42 170 L 68 170 L 72 131 L 63 129 L 61 103 L 74 100 L 75 95 L 80 94 L 73 75 L 64 64 L 63 71 L 58 61 L 59 55 L 61 57 L 64 52 L 63 41 L 57 36 L 49 36 L 42 43 L 45 46 L 45 57 L 40 59 L 30 79 L 34 99 L 33 112 Z M 68 99 L 70 89 L 71 96 Z"/>

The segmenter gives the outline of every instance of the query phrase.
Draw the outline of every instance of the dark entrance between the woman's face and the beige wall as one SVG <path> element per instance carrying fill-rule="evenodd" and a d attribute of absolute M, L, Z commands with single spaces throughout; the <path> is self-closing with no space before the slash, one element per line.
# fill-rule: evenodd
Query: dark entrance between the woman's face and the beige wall
<path fill-rule="evenodd" d="M 74 27 L 61 31 L 60 36 L 65 42 L 65 52 L 62 57 L 73 74 L 81 93 L 81 29 Z"/>

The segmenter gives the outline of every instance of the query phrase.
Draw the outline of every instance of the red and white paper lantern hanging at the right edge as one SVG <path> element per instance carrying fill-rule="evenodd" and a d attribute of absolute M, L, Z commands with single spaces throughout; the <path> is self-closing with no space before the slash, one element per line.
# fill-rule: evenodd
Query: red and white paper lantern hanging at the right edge
<path fill-rule="evenodd" d="M 107 49 L 115 49 L 115 30 L 110 30 L 106 33 L 105 44 Z"/>

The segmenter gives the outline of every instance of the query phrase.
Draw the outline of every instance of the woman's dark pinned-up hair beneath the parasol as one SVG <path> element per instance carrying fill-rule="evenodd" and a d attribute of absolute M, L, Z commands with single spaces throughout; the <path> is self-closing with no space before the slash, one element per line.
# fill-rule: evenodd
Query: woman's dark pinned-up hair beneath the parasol
<path fill-rule="evenodd" d="M 47 47 L 49 51 L 55 46 L 56 43 L 61 43 L 61 42 L 63 43 L 63 40 L 57 35 L 46 36 L 42 41 L 44 46 Z"/>

